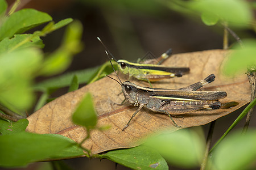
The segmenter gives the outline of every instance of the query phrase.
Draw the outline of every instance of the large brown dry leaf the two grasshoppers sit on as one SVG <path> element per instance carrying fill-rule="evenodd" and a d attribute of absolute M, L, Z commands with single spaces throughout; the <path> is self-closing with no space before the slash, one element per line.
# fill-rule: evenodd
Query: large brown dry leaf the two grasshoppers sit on
<path fill-rule="evenodd" d="M 191 73 L 181 78 L 153 83 L 153 87 L 177 89 L 196 83 L 213 73 L 216 75 L 216 80 L 205 86 L 204 89 L 226 91 L 228 96 L 225 99 L 221 99 L 221 103 L 230 101 L 239 103 L 236 107 L 229 109 L 198 111 L 183 114 L 184 118 L 174 117 L 177 125 L 187 128 L 208 124 L 249 102 L 250 87 L 246 75 L 227 79 L 219 72 L 221 63 L 228 53 L 229 51 L 226 50 L 207 50 L 175 54 L 164 62 L 163 65 L 167 66 L 190 67 Z M 112 74 L 112 77 L 115 78 L 115 75 Z M 122 75 L 121 80 L 124 81 L 127 78 Z M 137 82 L 137 84 L 148 87 L 146 82 Z M 106 131 L 93 130 L 91 138 L 84 142 L 83 146 L 91 149 L 93 154 L 116 148 L 137 146 L 140 143 L 139 139 L 155 131 L 167 128 L 172 131 L 177 130 L 167 114 L 142 109 L 133 118 L 130 126 L 125 131 L 122 131 L 122 128 L 127 124 L 137 107 L 127 102 L 122 106 L 115 105 L 114 103 L 121 103 L 124 99 L 123 95 L 120 95 L 121 86 L 110 78 L 103 78 L 77 91 L 60 96 L 39 109 L 39 111 L 28 117 L 30 124 L 27 127 L 27 131 L 39 134 L 61 134 L 80 142 L 85 138 L 86 131 L 84 128 L 72 123 L 71 115 L 86 92 L 91 92 L 94 97 L 94 104 L 98 113 L 98 126 L 111 126 Z"/>

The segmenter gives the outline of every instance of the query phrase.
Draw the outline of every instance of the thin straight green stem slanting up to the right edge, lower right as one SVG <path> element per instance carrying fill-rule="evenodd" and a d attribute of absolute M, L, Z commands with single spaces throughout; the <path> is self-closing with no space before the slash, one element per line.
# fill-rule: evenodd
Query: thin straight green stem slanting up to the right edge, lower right
<path fill-rule="evenodd" d="M 254 99 L 253 101 L 251 101 L 251 103 L 249 105 L 247 105 L 247 107 L 237 117 L 237 119 L 233 122 L 233 124 L 229 127 L 229 129 L 226 130 L 224 135 L 222 135 L 222 137 L 215 143 L 215 145 L 212 147 L 212 149 L 209 151 L 209 153 L 213 151 L 213 149 L 218 145 L 218 143 L 220 143 L 222 141 L 222 139 L 224 139 L 226 137 L 226 135 L 229 133 L 229 131 L 232 130 L 234 128 L 234 126 L 236 126 L 238 124 L 238 122 L 240 122 L 242 120 L 242 118 L 250 111 L 251 108 L 254 107 L 255 104 L 256 104 L 256 99 Z"/>

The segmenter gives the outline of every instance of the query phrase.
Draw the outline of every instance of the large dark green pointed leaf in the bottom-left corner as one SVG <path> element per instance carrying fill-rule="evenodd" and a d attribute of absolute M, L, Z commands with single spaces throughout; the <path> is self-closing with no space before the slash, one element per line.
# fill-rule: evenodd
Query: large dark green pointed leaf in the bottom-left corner
<path fill-rule="evenodd" d="M 26 132 L 0 136 L 0 166 L 16 167 L 50 158 L 74 145 L 68 140 Z"/>

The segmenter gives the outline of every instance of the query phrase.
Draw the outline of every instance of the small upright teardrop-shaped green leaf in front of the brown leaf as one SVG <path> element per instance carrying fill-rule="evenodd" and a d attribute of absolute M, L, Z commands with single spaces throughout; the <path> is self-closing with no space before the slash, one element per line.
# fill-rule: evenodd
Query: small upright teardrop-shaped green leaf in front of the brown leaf
<path fill-rule="evenodd" d="M 97 114 L 94 109 L 91 94 L 86 94 L 73 113 L 72 120 L 75 124 L 91 129 L 97 124 Z"/>

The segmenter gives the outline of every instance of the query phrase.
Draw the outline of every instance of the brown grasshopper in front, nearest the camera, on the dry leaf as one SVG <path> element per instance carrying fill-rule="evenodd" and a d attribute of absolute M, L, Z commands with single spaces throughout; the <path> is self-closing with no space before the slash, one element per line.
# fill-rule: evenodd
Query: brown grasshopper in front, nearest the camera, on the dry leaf
<path fill-rule="evenodd" d="M 105 52 L 109 57 L 108 52 Z M 112 65 L 110 57 L 109 61 Z M 117 75 L 116 72 L 115 74 Z M 114 80 L 118 82 L 118 80 Z M 122 131 L 130 125 L 131 120 L 143 107 L 153 112 L 167 114 L 177 128 L 180 128 L 180 126 L 178 126 L 172 119 L 172 116 L 174 115 L 199 111 L 201 109 L 220 108 L 221 103 L 218 100 L 227 96 L 225 91 L 196 91 L 214 80 L 215 75 L 210 74 L 207 78 L 200 80 L 200 82 L 180 88 L 179 90 L 172 90 L 167 88 L 142 87 L 129 81 L 122 83 L 119 79 L 118 83 L 122 87 L 122 93 L 123 96 L 125 96 L 125 100 L 131 105 L 139 107 L 137 111 L 133 113 L 133 116 L 131 116 Z"/>

